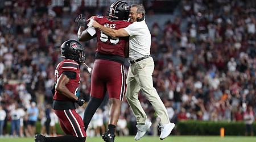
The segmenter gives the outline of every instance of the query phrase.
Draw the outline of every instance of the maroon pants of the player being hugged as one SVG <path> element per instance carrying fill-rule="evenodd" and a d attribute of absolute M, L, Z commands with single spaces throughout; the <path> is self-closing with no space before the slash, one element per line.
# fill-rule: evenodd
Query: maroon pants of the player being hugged
<path fill-rule="evenodd" d="M 123 100 L 126 90 L 125 67 L 119 62 L 97 59 L 92 70 L 91 96 Z"/>

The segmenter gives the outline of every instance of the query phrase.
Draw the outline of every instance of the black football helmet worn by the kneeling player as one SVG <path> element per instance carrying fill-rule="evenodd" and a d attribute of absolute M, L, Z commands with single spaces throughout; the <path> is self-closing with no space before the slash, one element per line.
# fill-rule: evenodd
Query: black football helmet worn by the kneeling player
<path fill-rule="evenodd" d="M 64 59 L 71 59 L 78 64 L 85 62 L 86 56 L 84 48 L 79 41 L 67 40 L 60 46 L 61 57 Z"/>

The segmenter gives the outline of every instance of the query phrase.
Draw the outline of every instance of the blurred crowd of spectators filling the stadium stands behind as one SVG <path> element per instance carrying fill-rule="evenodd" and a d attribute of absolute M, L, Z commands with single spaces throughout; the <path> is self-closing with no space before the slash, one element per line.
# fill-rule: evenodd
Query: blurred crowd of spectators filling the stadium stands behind
<path fill-rule="evenodd" d="M 86 7 L 84 2 L 0 2 L 1 136 L 34 136 L 35 130 L 26 124 L 31 116 L 28 110 L 33 107 L 38 108 L 35 121 L 47 121 L 51 111 L 47 111 L 46 106 L 49 108 L 52 103 L 53 74 L 62 60 L 59 46 L 65 40 L 77 40 L 78 27 L 74 19 L 79 14 L 86 18 L 108 15 L 108 3 L 101 7 Z M 150 1 L 142 2 L 146 9 L 150 9 Z M 149 27 L 151 56 L 155 61 L 154 86 L 167 107 L 171 122 L 243 121 L 246 110 L 256 118 L 255 7 L 256 1 L 250 0 L 183 0 L 175 8 L 175 18 L 167 20 L 164 27 L 159 26 L 157 19 Z M 154 11 L 148 14 L 146 11 L 146 22 L 151 15 Z M 168 14 L 165 15 L 169 19 Z M 97 41 L 82 44 L 86 64 L 93 68 Z M 128 61 L 125 66 L 129 68 Z M 84 66 L 81 70 L 77 95 L 88 101 L 90 74 Z M 148 134 L 158 135 L 159 118 L 143 93 L 138 96 L 148 119 L 154 122 Z M 77 111 L 84 115 L 85 107 L 78 107 Z M 108 122 L 107 101 L 97 111 L 96 118 L 102 120 L 102 124 Z M 22 123 L 16 124 L 14 120 Z M 126 100 L 119 120 L 119 135 L 129 135 L 129 132 L 135 135 L 137 122 Z M 11 122 L 11 132 L 6 130 L 7 121 Z M 127 123 L 130 130 L 127 130 Z M 28 129 L 18 129 L 18 126 Z M 90 132 L 89 136 L 105 131 L 104 127 L 93 123 L 91 128 L 96 131 Z M 53 134 L 56 133 L 53 131 Z"/>

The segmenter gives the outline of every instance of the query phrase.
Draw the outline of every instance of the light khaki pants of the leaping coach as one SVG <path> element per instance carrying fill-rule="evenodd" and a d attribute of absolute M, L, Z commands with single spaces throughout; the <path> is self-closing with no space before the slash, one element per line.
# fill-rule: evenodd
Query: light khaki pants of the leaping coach
<path fill-rule="evenodd" d="M 138 99 L 138 92 L 142 90 L 148 101 L 154 107 L 156 115 L 161 120 L 161 124 L 170 123 L 166 107 L 160 99 L 153 86 L 152 73 L 155 65 L 152 57 L 130 64 L 127 75 L 126 99 L 139 125 L 145 124 L 147 115 Z"/>

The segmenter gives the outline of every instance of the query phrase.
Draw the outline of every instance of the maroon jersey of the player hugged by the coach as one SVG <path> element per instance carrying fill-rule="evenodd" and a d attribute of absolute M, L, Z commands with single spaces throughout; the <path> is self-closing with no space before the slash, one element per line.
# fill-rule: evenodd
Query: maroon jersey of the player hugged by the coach
<path fill-rule="evenodd" d="M 106 16 L 97 16 L 94 18 L 94 20 L 105 27 L 113 28 L 115 30 L 125 28 L 131 24 L 131 22 L 127 20 L 111 20 L 106 18 Z M 129 37 L 110 37 L 104 34 L 104 32 L 98 30 L 98 28 L 96 28 L 96 36 L 98 41 L 97 52 L 125 57 L 125 43 L 127 40 L 129 40 Z"/>

